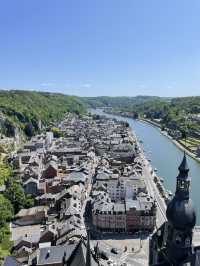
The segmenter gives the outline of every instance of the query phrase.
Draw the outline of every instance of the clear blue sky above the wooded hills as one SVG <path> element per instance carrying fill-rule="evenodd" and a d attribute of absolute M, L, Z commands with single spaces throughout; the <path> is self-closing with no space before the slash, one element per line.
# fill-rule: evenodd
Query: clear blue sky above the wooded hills
<path fill-rule="evenodd" d="M 0 89 L 200 95 L 199 0 L 0 0 Z"/>

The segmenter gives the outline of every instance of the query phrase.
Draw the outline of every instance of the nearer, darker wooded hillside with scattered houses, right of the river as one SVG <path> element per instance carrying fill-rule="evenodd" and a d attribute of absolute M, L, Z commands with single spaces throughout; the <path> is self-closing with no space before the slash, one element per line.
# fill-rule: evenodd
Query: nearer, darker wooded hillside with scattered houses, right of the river
<path fill-rule="evenodd" d="M 167 128 L 200 131 L 200 97 L 173 98 L 170 102 L 155 100 L 129 109 L 149 119 L 158 119 Z"/>

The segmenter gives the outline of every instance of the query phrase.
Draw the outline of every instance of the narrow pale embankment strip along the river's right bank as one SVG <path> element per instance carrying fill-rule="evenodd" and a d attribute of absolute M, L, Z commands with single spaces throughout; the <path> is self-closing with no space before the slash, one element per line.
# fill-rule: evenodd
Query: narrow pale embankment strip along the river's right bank
<path fill-rule="evenodd" d="M 150 124 L 152 126 L 155 126 L 156 128 L 160 129 L 160 133 L 162 135 L 164 135 L 165 137 L 167 137 L 168 139 L 171 140 L 171 142 L 176 145 L 180 150 L 185 151 L 185 153 L 187 155 L 189 155 L 192 159 L 196 160 L 198 163 L 200 163 L 200 158 L 196 157 L 196 154 L 192 153 L 191 151 L 189 151 L 185 146 L 183 146 L 180 142 L 178 142 L 177 140 L 173 139 L 166 131 L 162 131 L 161 130 L 161 126 L 160 124 L 151 121 L 149 119 L 145 119 L 145 118 L 140 118 L 139 121 Z"/>

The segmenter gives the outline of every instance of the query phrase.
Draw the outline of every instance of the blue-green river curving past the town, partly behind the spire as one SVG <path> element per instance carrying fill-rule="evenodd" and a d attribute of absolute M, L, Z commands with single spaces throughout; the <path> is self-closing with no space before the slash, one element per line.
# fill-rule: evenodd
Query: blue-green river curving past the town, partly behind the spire
<path fill-rule="evenodd" d="M 183 152 L 170 139 L 162 135 L 157 127 L 131 118 L 105 114 L 101 110 L 92 110 L 92 113 L 103 114 L 129 123 L 139 140 L 143 143 L 146 157 L 158 169 L 158 176 L 164 179 L 164 186 L 173 193 L 176 188 L 178 166 Z M 200 225 L 200 163 L 187 156 L 191 176 L 191 198 L 197 212 L 197 225 Z"/>

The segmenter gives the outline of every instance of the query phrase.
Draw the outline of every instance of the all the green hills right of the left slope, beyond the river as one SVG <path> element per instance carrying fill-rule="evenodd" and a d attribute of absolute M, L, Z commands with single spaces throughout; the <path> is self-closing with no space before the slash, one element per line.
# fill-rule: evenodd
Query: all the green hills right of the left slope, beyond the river
<path fill-rule="evenodd" d="M 89 107 L 109 108 L 109 112 L 157 120 L 163 128 L 200 134 L 200 97 L 162 98 L 88 97 L 82 100 Z"/>

